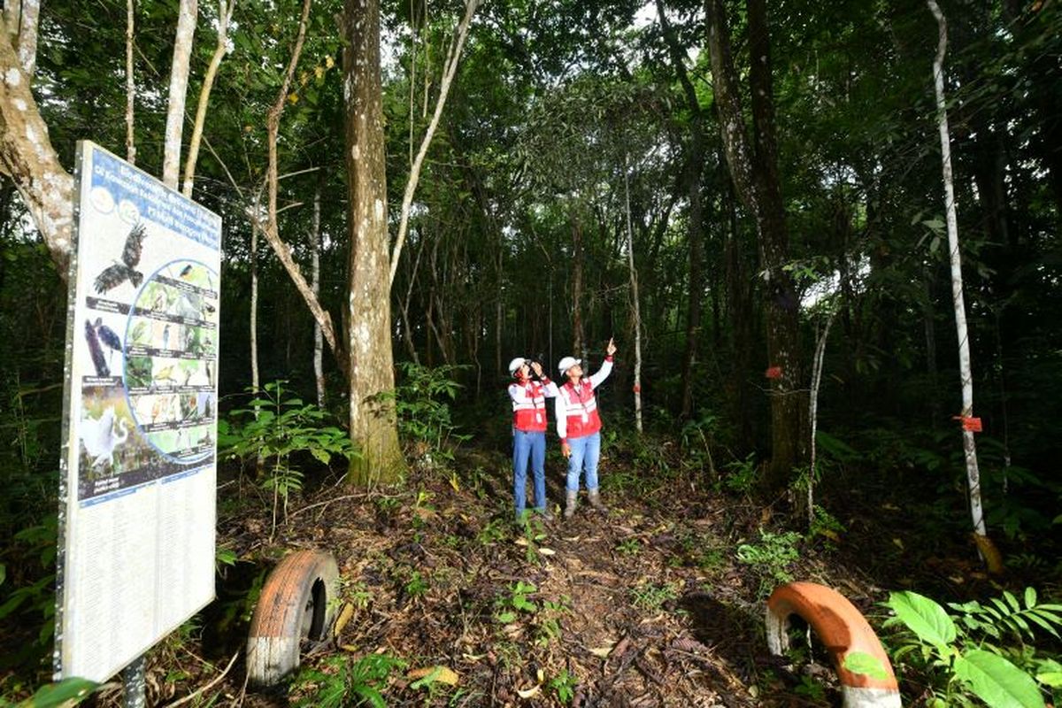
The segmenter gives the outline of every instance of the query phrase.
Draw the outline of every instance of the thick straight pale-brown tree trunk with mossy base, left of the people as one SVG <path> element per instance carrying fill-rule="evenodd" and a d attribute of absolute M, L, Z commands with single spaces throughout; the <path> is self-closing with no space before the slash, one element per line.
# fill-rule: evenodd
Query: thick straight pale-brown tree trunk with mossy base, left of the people
<path fill-rule="evenodd" d="M 350 436 L 362 456 L 350 481 L 396 481 L 406 463 L 398 446 L 391 355 L 391 278 L 380 80 L 379 0 L 345 0 L 343 99 L 350 258 L 345 310 Z"/>

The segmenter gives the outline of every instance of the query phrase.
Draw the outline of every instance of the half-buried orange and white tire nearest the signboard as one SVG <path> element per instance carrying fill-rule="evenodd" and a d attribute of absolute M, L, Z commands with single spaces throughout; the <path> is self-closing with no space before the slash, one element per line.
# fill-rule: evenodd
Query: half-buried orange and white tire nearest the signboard
<path fill-rule="evenodd" d="M 331 627 L 339 568 L 324 551 L 286 556 L 262 586 L 247 636 L 247 680 L 274 686 L 298 667 L 303 639 L 320 640 Z"/>

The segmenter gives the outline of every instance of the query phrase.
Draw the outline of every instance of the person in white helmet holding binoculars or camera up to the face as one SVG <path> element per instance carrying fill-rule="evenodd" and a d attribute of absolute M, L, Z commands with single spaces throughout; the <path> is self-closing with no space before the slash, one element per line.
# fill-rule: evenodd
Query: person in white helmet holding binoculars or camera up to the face
<path fill-rule="evenodd" d="M 535 373 L 537 381 L 531 378 Z M 524 357 L 509 362 L 513 382 L 509 397 L 513 401 L 513 499 L 516 503 L 516 521 L 524 518 L 527 505 L 528 456 L 534 480 L 534 502 L 547 521 L 553 515 L 546 506 L 546 399 L 556 396 L 556 384 L 543 374 L 542 364 Z"/>

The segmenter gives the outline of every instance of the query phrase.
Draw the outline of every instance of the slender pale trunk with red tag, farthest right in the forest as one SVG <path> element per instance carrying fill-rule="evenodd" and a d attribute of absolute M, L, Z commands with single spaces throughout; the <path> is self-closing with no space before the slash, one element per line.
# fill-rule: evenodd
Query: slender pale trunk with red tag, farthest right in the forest
<path fill-rule="evenodd" d="M 974 415 L 974 376 L 970 363 L 970 339 L 966 332 L 966 306 L 962 295 L 962 260 L 959 254 L 959 225 L 956 217 L 955 184 L 952 176 L 952 138 L 947 127 L 947 105 L 944 101 L 944 54 L 947 51 L 947 23 L 936 0 L 926 4 L 937 18 L 939 39 L 932 64 L 933 87 L 937 94 L 937 125 L 940 131 L 940 158 L 944 178 L 944 213 L 947 223 L 947 245 L 952 263 L 952 301 L 955 305 L 955 329 L 959 339 L 959 376 L 962 383 L 962 421 Z M 983 537 L 984 514 L 981 510 L 980 471 L 977 468 L 977 446 L 971 427 L 962 426 L 962 449 L 966 459 L 966 480 L 970 491 L 970 515 L 974 533 Z"/>

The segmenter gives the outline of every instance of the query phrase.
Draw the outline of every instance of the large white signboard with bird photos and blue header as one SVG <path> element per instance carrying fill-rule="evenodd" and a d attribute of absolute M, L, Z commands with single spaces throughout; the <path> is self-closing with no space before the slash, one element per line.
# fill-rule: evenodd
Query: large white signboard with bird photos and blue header
<path fill-rule="evenodd" d="M 142 685 L 213 600 L 221 218 L 91 142 L 75 178 L 55 674 Z"/>

